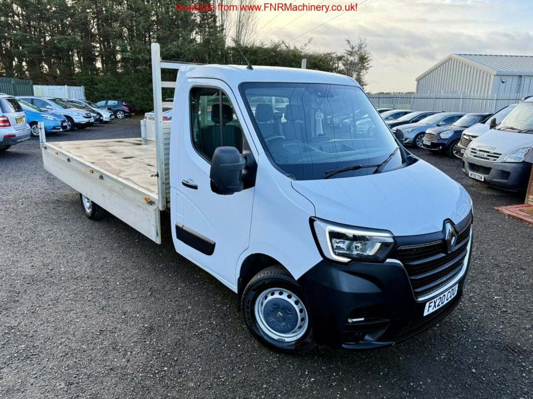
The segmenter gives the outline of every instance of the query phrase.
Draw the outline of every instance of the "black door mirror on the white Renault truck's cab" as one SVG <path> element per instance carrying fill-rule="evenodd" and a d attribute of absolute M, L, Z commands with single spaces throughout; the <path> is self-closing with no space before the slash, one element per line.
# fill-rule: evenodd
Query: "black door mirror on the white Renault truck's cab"
<path fill-rule="evenodd" d="M 242 172 L 246 161 L 235 147 L 218 147 L 211 161 L 211 189 L 213 193 L 230 195 L 243 190 Z"/>

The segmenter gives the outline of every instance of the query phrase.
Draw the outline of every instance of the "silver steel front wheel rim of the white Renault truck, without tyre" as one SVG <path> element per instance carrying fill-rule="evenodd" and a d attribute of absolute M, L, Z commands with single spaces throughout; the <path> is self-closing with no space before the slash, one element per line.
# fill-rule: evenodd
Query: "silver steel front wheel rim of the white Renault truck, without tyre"
<path fill-rule="evenodd" d="M 302 300 L 285 288 L 264 290 L 255 301 L 254 315 L 261 331 L 279 342 L 302 338 L 309 324 Z"/>

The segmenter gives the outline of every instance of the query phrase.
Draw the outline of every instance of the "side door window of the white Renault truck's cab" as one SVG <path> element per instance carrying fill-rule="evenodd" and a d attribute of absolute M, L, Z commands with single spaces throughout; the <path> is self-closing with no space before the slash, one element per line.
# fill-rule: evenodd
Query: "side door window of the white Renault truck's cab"
<path fill-rule="evenodd" d="M 243 152 L 243 129 L 221 90 L 192 88 L 190 111 L 192 145 L 208 162 L 218 147 L 231 146 Z"/>

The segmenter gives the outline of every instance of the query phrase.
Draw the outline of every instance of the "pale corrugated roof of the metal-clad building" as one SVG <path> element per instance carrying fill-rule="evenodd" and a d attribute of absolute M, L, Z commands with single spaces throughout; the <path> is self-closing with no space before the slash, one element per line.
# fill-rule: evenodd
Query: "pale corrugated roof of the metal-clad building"
<path fill-rule="evenodd" d="M 418 76 L 416 80 L 452 58 L 493 75 L 533 76 L 533 55 L 450 54 Z"/>

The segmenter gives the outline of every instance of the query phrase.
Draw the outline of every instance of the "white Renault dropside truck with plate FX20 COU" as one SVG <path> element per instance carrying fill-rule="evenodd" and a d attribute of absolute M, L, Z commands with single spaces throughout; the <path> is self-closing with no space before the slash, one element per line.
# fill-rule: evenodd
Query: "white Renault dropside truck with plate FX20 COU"
<path fill-rule="evenodd" d="M 41 135 L 45 169 L 87 217 L 105 210 L 161 243 L 170 212 L 176 251 L 237 293 L 254 336 L 283 352 L 391 345 L 455 308 L 470 196 L 400 145 L 356 81 L 161 61 L 157 44 L 152 74 L 155 120 L 141 123 L 155 141 Z M 161 86 L 175 87 L 172 122 Z"/>

